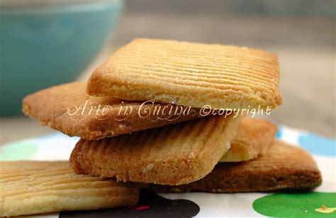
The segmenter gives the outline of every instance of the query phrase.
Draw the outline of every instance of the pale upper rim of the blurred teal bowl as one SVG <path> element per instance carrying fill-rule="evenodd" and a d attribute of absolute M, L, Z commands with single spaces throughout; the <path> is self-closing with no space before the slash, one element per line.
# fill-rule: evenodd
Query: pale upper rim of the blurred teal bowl
<path fill-rule="evenodd" d="M 0 15 L 15 13 L 65 13 L 84 11 L 105 11 L 108 9 L 123 9 L 123 0 L 85 1 L 69 4 L 47 4 L 47 5 L 26 5 L 26 6 L 1 6 Z"/>

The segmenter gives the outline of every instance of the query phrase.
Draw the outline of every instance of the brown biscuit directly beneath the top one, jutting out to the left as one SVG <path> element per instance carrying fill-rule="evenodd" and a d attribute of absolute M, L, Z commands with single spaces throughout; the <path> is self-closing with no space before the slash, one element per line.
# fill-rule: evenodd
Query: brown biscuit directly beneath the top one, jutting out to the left
<path fill-rule="evenodd" d="M 23 99 L 23 112 L 52 129 L 88 140 L 166 126 L 200 116 L 198 109 L 190 107 L 90 97 L 85 88 L 85 82 L 72 82 L 35 92 Z"/>

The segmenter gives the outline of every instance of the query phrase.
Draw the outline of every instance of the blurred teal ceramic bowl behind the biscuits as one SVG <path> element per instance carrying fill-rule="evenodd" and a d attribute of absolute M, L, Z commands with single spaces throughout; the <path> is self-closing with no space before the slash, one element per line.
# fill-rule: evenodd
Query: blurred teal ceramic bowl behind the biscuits
<path fill-rule="evenodd" d="M 26 94 L 70 82 L 111 36 L 123 1 L 0 8 L 0 115 Z"/>

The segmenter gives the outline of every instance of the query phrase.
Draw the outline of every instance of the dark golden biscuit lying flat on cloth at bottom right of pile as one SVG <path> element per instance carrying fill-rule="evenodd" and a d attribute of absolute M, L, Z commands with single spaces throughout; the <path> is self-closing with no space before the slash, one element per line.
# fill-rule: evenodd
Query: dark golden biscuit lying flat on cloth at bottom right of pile
<path fill-rule="evenodd" d="M 310 190 L 322 182 L 313 158 L 302 148 L 274 141 L 265 156 L 218 163 L 205 178 L 187 185 L 149 185 L 157 192 L 271 192 Z"/>

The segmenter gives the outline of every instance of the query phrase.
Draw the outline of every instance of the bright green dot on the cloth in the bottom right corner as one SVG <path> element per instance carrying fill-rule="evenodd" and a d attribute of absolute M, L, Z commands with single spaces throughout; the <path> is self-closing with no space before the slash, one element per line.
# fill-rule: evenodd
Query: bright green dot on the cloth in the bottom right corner
<path fill-rule="evenodd" d="M 260 197 L 253 209 L 268 217 L 336 217 L 336 212 L 321 213 L 322 205 L 336 207 L 335 192 L 283 193 Z"/>

